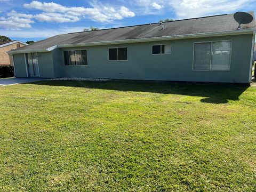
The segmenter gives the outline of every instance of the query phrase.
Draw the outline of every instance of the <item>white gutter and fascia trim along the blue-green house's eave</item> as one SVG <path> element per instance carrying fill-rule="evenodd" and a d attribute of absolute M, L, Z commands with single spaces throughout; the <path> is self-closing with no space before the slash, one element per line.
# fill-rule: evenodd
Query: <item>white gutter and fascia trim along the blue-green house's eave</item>
<path fill-rule="evenodd" d="M 242 34 L 252 34 L 256 29 L 240 29 L 240 30 L 230 30 L 230 31 L 218 31 L 218 32 L 207 32 L 199 34 L 186 34 L 186 35 L 176 35 L 176 36 L 164 36 L 164 37 L 150 37 L 150 38 L 139 38 L 139 39 L 125 39 L 117 41 L 105 41 L 105 42 L 92 42 L 92 43 L 77 43 L 77 44 L 60 44 L 49 47 L 47 49 L 39 49 L 33 51 L 9 51 L 7 53 L 31 53 L 31 52 L 48 52 L 61 47 L 79 47 L 79 46 L 95 46 L 95 45 L 110 45 L 110 44 L 123 44 L 123 43 L 139 43 L 139 42 L 153 42 L 153 41 L 164 41 L 172 39 L 186 39 L 186 38 L 199 38 L 199 37 L 215 37 L 215 36 L 226 36 L 226 35 L 242 35 Z"/>

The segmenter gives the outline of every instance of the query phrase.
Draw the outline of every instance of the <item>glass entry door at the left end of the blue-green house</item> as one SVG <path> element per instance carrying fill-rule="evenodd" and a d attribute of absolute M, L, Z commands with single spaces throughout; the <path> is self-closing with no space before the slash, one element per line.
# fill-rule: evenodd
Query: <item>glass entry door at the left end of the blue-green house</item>
<path fill-rule="evenodd" d="M 39 77 L 37 53 L 27 53 L 27 62 L 28 62 L 28 76 Z"/>

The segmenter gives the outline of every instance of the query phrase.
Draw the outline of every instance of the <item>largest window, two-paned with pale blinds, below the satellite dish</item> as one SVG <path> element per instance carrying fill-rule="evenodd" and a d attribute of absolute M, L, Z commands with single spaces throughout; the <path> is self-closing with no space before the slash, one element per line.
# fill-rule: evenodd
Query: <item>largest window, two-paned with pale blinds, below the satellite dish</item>
<path fill-rule="evenodd" d="M 193 70 L 230 70 L 231 41 L 194 44 Z"/>

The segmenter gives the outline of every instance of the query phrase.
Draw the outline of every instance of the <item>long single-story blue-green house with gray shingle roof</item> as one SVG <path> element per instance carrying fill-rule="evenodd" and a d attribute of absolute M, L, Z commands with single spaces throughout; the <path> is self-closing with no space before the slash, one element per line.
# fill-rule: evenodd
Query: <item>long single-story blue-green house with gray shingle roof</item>
<path fill-rule="evenodd" d="M 17 77 L 251 82 L 256 23 L 234 14 L 53 36 L 9 52 Z"/>

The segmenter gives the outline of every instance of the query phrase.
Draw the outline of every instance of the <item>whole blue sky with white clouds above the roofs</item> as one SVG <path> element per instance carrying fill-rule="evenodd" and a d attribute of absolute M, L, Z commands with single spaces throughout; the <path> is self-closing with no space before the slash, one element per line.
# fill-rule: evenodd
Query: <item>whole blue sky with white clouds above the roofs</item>
<path fill-rule="evenodd" d="M 24 42 L 90 26 L 103 29 L 256 10 L 255 0 L 0 0 L 0 5 L 0 35 Z"/>

